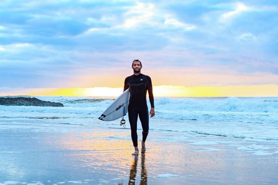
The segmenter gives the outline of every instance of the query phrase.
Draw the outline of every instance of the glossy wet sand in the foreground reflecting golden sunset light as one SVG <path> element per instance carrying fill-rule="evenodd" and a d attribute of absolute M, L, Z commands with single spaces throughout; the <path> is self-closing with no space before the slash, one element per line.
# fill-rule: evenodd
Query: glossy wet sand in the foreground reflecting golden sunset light
<path fill-rule="evenodd" d="M 254 155 L 238 147 L 259 142 L 152 130 L 133 157 L 128 129 L 13 120 L 0 131 L 0 185 L 278 184 L 277 142 Z"/>

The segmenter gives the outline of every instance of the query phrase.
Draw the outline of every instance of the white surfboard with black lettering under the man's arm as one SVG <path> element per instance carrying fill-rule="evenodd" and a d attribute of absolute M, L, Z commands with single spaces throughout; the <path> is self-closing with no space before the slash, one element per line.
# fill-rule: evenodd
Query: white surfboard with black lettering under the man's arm
<path fill-rule="evenodd" d="M 125 90 L 99 117 L 102 121 L 113 121 L 125 116 L 128 113 L 130 92 Z"/>

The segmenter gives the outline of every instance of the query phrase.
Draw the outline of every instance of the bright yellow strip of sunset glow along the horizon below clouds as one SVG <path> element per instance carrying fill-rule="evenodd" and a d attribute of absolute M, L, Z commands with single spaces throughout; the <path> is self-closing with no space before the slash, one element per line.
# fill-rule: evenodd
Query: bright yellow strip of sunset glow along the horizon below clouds
<path fill-rule="evenodd" d="M 1 96 L 87 96 L 117 97 L 123 88 L 39 88 L 23 89 L 21 92 L 0 93 Z M 153 87 L 154 97 L 278 97 L 278 85 L 237 85 L 237 86 L 175 86 Z M 147 94 L 148 96 L 148 94 Z"/>

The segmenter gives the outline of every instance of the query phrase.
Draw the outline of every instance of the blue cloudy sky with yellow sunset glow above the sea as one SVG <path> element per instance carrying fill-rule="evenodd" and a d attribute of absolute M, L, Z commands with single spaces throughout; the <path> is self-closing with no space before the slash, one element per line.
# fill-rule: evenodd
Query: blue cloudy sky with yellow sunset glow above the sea
<path fill-rule="evenodd" d="M 278 96 L 277 1 L 2 0 L 0 17 L 1 96 L 117 96 L 134 59 L 156 96 Z"/>

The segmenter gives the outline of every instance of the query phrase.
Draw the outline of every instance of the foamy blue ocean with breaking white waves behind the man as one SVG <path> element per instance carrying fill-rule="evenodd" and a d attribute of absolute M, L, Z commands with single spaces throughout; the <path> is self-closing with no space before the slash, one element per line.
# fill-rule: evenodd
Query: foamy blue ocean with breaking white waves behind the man
<path fill-rule="evenodd" d="M 39 120 L 55 127 L 58 124 L 121 129 L 120 119 L 101 121 L 98 117 L 115 98 L 44 97 L 65 107 L 0 105 L 0 121 Z M 147 99 L 150 110 L 150 103 Z M 193 132 L 246 140 L 278 141 L 278 97 L 157 97 L 150 130 Z M 128 114 L 124 117 L 130 128 Z M 138 130 L 141 129 L 138 119 Z"/>

